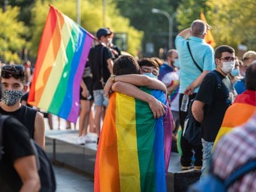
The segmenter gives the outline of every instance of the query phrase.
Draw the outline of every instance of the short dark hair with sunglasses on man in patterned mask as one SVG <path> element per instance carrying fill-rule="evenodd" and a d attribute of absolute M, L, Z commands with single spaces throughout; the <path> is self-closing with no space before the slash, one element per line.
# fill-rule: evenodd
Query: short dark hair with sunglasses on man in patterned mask
<path fill-rule="evenodd" d="M 4 65 L 1 69 L 1 80 L 2 78 L 15 78 L 22 81 L 25 85 L 27 82 L 27 72 L 22 65 Z"/>

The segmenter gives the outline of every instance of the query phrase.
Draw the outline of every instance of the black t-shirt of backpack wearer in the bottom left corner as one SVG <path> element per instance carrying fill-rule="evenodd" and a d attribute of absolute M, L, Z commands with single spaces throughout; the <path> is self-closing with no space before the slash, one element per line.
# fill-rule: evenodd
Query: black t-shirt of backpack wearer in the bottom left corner
<path fill-rule="evenodd" d="M 0 160 L 0 191 L 19 191 L 22 181 L 14 169 L 14 161 L 21 157 L 34 155 L 30 137 L 22 123 L 14 117 L 7 118 L 2 125 L 3 151 Z"/>

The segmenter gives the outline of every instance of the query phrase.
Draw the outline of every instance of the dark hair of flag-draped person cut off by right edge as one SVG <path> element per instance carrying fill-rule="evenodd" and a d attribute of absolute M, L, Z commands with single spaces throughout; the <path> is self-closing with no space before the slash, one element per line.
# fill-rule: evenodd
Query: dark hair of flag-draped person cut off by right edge
<path fill-rule="evenodd" d="M 256 91 L 256 61 L 252 62 L 245 71 L 245 88 Z"/>

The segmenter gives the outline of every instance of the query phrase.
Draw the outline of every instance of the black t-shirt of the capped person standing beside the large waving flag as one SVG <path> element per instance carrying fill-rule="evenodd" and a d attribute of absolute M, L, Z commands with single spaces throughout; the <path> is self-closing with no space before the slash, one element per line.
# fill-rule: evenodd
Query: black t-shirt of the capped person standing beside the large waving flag
<path fill-rule="evenodd" d="M 112 57 L 111 52 L 106 46 L 98 44 L 95 48 L 91 48 L 88 56 L 88 62 L 93 74 L 93 90 L 102 90 L 101 77 L 106 82 L 110 77 L 108 63 L 106 62 Z M 103 74 L 101 74 L 103 72 Z"/>

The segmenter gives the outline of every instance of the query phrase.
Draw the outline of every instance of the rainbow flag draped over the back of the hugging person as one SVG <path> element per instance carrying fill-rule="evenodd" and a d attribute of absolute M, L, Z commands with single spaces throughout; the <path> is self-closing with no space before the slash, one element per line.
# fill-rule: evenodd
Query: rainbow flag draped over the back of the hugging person
<path fill-rule="evenodd" d="M 147 93 L 166 104 L 163 91 Z M 168 119 L 164 131 L 164 118 L 153 119 L 147 103 L 111 94 L 96 154 L 94 190 L 166 191 L 169 161 L 164 162 L 169 156 L 164 143 L 169 143 L 170 153 L 172 133 Z"/>

